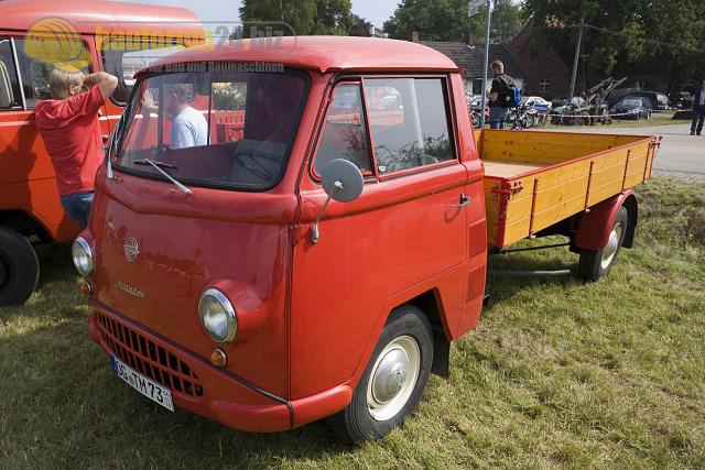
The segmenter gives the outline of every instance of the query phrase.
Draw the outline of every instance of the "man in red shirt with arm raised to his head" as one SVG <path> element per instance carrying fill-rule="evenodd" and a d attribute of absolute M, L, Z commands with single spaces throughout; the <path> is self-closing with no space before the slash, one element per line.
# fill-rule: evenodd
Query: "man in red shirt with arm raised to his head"
<path fill-rule="evenodd" d="M 94 179 L 102 162 L 98 110 L 118 86 L 105 72 L 55 68 L 48 78 L 54 99 L 36 103 L 36 127 L 52 159 L 62 206 L 80 229 L 88 226 Z M 89 87 L 83 91 L 84 86 Z"/>

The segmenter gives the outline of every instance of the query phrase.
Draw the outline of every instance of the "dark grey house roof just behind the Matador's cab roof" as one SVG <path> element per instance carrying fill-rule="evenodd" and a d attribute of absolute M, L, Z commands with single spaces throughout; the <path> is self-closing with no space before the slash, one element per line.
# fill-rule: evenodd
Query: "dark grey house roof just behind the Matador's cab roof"
<path fill-rule="evenodd" d="M 421 44 L 433 47 L 442 54 L 448 56 L 458 67 L 465 69 L 465 76 L 481 78 L 482 61 L 485 59 L 485 47 L 481 45 L 470 46 L 465 43 L 446 43 L 438 41 L 420 41 Z M 505 64 L 505 73 L 513 78 L 527 78 L 529 74 L 519 64 L 507 47 L 501 44 L 489 45 L 489 63 L 500 59 Z M 489 76 L 492 70 L 487 67 Z"/>

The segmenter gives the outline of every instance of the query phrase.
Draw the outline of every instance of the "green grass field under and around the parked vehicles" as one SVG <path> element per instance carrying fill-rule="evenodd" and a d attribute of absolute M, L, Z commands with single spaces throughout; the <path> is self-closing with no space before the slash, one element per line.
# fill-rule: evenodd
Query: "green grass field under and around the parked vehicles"
<path fill-rule="evenodd" d="M 639 197 L 637 247 L 608 278 L 491 277 L 451 380 L 360 447 L 324 424 L 252 435 L 152 405 L 89 339 L 68 248 L 42 247 L 39 292 L 0 313 L 0 468 L 705 468 L 705 196 L 655 179 Z M 575 262 L 553 249 L 491 269 Z"/>

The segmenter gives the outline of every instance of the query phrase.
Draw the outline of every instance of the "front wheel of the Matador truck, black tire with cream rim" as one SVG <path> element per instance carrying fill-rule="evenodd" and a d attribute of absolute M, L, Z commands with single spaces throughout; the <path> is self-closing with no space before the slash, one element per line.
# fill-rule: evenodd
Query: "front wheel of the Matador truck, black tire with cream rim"
<path fill-rule="evenodd" d="M 350 442 L 380 439 L 403 425 L 421 400 L 433 363 L 433 334 L 419 308 L 392 311 L 350 404 L 333 415 L 333 428 Z"/>

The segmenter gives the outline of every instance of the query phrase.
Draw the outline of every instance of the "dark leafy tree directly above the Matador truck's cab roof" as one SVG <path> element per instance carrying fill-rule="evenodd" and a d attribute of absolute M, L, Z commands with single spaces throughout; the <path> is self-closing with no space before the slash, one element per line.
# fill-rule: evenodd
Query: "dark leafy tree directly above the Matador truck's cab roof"
<path fill-rule="evenodd" d="M 246 23 L 284 22 L 291 25 L 291 34 L 341 35 L 352 24 L 350 9 L 350 0 L 243 0 L 240 19 Z"/>

